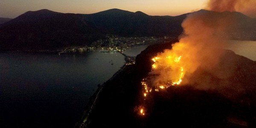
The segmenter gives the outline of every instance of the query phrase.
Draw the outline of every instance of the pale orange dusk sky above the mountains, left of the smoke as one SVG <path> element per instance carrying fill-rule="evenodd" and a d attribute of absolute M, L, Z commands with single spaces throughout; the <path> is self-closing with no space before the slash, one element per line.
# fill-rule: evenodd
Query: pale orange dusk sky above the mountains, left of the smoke
<path fill-rule="evenodd" d="M 108 9 L 148 15 L 176 16 L 203 9 L 207 0 L 1 0 L 0 17 L 15 18 L 27 11 L 49 9 L 62 13 L 91 14 Z"/>

